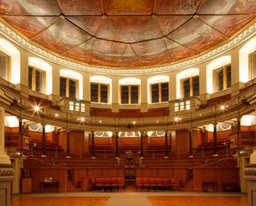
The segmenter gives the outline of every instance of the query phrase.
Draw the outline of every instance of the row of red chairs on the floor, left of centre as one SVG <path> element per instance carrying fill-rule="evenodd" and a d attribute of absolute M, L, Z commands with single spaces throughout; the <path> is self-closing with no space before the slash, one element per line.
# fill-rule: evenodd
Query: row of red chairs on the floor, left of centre
<path fill-rule="evenodd" d="M 124 177 L 97 177 L 90 178 L 90 182 L 92 184 L 92 189 L 97 190 L 97 188 L 101 188 L 102 191 L 115 189 L 119 191 L 119 188 L 123 188 L 124 190 Z"/>

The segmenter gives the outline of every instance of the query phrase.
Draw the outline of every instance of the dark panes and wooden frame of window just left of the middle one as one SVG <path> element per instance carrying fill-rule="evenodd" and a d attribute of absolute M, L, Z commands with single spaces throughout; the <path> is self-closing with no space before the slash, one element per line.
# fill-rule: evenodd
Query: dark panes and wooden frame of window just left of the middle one
<path fill-rule="evenodd" d="M 110 86 L 108 84 L 91 83 L 90 99 L 94 103 L 109 103 Z"/>

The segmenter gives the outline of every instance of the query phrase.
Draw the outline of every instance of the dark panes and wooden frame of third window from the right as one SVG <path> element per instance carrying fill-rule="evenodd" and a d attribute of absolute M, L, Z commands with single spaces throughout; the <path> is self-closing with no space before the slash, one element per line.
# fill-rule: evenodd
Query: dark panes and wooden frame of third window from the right
<path fill-rule="evenodd" d="M 181 79 L 181 94 L 183 98 L 199 96 L 199 76 Z"/>

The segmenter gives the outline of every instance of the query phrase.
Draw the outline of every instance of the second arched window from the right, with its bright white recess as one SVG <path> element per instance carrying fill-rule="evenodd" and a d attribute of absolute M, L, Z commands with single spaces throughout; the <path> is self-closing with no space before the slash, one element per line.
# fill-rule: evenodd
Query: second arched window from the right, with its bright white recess
<path fill-rule="evenodd" d="M 231 87 L 231 56 L 214 59 L 206 66 L 207 93 Z"/>

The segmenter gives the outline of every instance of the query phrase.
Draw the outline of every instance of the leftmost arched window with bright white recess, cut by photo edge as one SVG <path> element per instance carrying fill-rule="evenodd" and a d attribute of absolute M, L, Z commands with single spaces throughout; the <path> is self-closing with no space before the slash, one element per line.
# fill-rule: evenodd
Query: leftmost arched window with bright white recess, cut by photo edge
<path fill-rule="evenodd" d="M 0 76 L 12 84 L 21 82 L 21 52 L 0 38 Z"/>

